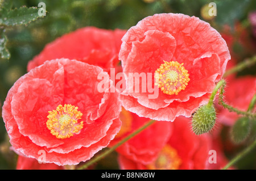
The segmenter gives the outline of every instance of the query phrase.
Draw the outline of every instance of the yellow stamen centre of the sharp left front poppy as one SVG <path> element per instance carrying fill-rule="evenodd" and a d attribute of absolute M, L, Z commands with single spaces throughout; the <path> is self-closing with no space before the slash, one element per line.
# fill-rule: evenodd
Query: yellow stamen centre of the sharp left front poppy
<path fill-rule="evenodd" d="M 47 128 L 56 138 L 64 139 L 78 134 L 83 127 L 83 121 L 78 123 L 81 119 L 82 113 L 77 111 L 78 107 L 71 104 L 57 106 L 56 110 L 48 111 L 48 120 L 46 122 Z"/>

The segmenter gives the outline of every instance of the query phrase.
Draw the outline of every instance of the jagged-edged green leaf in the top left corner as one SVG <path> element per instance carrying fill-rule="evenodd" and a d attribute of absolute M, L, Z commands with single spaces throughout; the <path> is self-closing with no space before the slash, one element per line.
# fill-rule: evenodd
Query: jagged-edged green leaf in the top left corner
<path fill-rule="evenodd" d="M 18 26 L 26 25 L 38 18 L 42 18 L 36 7 L 20 7 L 19 9 L 6 10 L 2 9 L 0 18 L 1 26 Z"/>

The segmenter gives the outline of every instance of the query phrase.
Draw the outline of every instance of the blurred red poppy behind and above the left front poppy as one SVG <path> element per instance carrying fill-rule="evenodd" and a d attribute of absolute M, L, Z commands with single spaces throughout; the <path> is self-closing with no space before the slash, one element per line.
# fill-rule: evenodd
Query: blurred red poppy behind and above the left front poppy
<path fill-rule="evenodd" d="M 125 30 L 119 29 L 80 28 L 47 44 L 38 56 L 28 62 L 27 70 L 42 65 L 47 60 L 69 58 L 98 65 L 109 71 L 118 64 L 121 38 L 125 33 Z"/>

